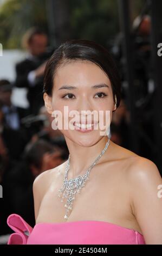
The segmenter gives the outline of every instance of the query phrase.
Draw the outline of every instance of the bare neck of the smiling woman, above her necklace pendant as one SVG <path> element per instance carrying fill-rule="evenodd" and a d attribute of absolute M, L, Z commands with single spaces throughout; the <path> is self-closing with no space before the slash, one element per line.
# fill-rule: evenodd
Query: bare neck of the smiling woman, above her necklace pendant
<path fill-rule="evenodd" d="M 68 172 L 68 179 L 76 178 L 79 175 L 85 174 L 87 169 L 91 166 L 91 164 L 95 161 L 96 157 L 101 154 L 101 151 L 105 148 L 106 143 L 108 142 L 107 136 L 102 136 L 100 141 L 95 143 L 92 146 L 79 145 L 72 142 L 69 138 L 65 136 L 67 147 L 69 149 L 70 154 L 70 168 Z M 107 150 L 109 150 L 109 146 L 111 141 L 109 141 L 109 145 Z M 106 151 L 107 151 L 106 150 Z M 105 151 L 105 153 L 106 153 Z M 104 161 L 107 156 L 103 154 L 98 162 Z M 96 163 L 98 164 L 98 163 Z"/>

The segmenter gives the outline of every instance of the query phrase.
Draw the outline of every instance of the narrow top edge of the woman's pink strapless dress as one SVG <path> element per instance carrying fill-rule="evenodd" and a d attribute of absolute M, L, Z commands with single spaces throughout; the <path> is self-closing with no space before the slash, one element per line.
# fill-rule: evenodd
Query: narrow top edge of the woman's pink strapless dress
<path fill-rule="evenodd" d="M 45 224 L 45 225 L 63 225 L 63 224 L 74 224 L 74 223 L 81 223 L 81 222 L 94 222 L 94 223 L 105 223 L 105 224 L 108 224 L 108 225 L 113 225 L 115 227 L 118 227 L 118 228 L 122 228 L 122 229 L 126 229 L 128 231 L 134 231 L 134 233 L 138 233 L 139 235 L 141 235 L 143 237 L 143 235 L 137 231 L 137 230 L 134 230 L 132 228 L 126 228 L 126 227 L 122 227 L 121 225 L 118 225 L 118 224 L 114 224 L 114 223 L 111 223 L 111 222 L 107 222 L 107 221 L 94 221 L 94 220 L 87 220 L 87 221 L 84 221 L 84 220 L 81 220 L 81 221 L 67 221 L 67 222 L 38 222 L 35 224 L 34 227 L 40 225 L 40 224 Z"/>

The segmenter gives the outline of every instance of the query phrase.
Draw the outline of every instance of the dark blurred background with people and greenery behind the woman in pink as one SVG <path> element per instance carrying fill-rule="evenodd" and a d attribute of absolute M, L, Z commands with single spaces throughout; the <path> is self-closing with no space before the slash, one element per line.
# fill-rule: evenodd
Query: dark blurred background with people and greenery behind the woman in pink
<path fill-rule="evenodd" d="M 111 52 L 122 82 L 111 139 L 162 174 L 161 9 L 161 0 L 0 0 L 0 243 L 10 214 L 34 226 L 33 181 L 68 158 L 42 94 L 46 62 L 65 40 L 94 40 Z"/>

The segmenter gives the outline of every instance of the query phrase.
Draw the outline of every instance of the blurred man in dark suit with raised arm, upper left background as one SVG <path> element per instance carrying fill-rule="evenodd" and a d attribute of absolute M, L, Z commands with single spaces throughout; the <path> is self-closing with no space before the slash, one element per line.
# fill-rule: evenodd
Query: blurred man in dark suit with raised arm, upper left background
<path fill-rule="evenodd" d="M 27 49 L 28 56 L 16 64 L 15 86 L 28 89 L 30 114 L 37 114 L 43 101 L 43 73 L 47 59 L 53 53 L 48 50 L 48 37 L 40 28 L 30 28 L 22 40 L 23 47 Z"/>

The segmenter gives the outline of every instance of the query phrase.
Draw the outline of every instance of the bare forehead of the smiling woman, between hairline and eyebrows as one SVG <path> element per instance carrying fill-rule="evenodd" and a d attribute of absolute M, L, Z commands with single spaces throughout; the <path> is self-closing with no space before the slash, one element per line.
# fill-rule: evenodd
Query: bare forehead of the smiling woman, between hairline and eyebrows
<path fill-rule="evenodd" d="M 75 86 L 92 86 L 96 83 L 110 84 L 108 76 L 95 63 L 88 60 L 73 60 L 64 63 L 57 70 L 54 76 L 55 88 L 63 84 Z"/>

